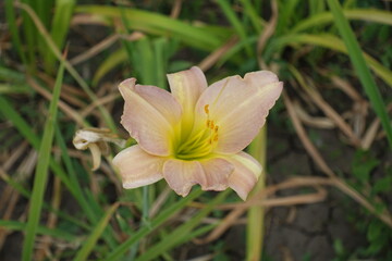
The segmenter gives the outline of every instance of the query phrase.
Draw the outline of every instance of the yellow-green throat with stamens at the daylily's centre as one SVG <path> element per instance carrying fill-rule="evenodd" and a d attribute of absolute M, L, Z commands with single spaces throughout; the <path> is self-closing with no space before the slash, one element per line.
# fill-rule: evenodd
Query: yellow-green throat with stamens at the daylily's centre
<path fill-rule="evenodd" d="M 210 154 L 218 142 L 219 126 L 209 117 L 209 105 L 205 105 L 207 119 L 205 125 L 197 132 L 192 132 L 175 149 L 175 158 L 181 160 L 197 160 Z"/>

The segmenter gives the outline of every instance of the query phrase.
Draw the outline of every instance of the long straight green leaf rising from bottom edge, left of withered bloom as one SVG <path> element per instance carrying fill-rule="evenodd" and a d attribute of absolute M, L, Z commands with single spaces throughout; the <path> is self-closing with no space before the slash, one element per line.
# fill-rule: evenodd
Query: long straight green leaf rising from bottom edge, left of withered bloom
<path fill-rule="evenodd" d="M 34 239 L 37 233 L 37 226 L 39 223 L 41 206 L 44 200 L 44 192 L 48 179 L 50 152 L 54 136 L 54 124 L 57 121 L 58 102 L 60 99 L 63 74 L 64 74 L 64 64 L 62 63 L 60 65 L 58 76 L 56 79 L 53 96 L 49 108 L 49 115 L 45 123 L 45 129 L 44 129 L 45 138 L 41 140 L 38 151 L 38 163 L 35 172 L 33 194 L 28 208 L 26 236 L 23 244 L 22 260 L 24 261 L 32 260 L 32 256 L 33 256 Z"/>

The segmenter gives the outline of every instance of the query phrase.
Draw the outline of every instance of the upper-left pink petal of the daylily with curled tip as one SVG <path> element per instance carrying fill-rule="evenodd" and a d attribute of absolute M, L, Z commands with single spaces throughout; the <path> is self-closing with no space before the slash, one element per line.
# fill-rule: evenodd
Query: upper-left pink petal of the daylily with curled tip
<path fill-rule="evenodd" d="M 173 96 L 158 87 L 122 82 L 120 92 L 125 100 L 121 124 L 139 146 L 150 154 L 172 153 L 172 138 L 181 119 L 181 105 Z"/>

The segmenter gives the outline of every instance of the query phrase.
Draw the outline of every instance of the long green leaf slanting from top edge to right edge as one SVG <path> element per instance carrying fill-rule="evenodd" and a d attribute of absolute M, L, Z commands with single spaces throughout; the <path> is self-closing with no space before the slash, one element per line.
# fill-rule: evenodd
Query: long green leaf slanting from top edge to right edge
<path fill-rule="evenodd" d="M 381 94 L 365 61 L 359 44 L 356 40 L 355 35 L 350 27 L 348 21 L 343 14 L 340 3 L 336 0 L 328 0 L 328 5 L 332 11 L 335 25 L 338 26 L 339 32 L 342 35 L 344 44 L 348 50 L 348 54 L 353 62 L 354 69 L 360 79 L 365 92 L 369 97 L 372 108 L 375 109 L 377 115 L 381 121 L 381 124 L 387 133 L 390 147 L 392 148 L 391 121 L 388 116 Z"/>

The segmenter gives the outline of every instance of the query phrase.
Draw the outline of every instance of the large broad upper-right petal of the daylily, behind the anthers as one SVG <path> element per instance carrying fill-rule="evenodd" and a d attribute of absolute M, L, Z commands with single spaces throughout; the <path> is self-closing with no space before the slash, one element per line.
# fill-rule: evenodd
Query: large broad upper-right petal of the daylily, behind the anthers
<path fill-rule="evenodd" d="M 232 76 L 207 88 L 196 104 L 197 124 L 208 120 L 219 126 L 216 153 L 236 153 L 255 138 L 268 111 L 282 91 L 283 83 L 266 71 L 245 78 Z"/>

